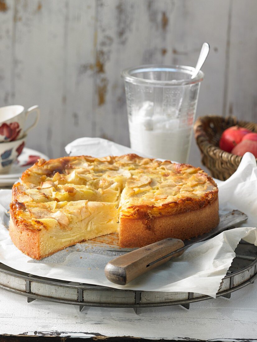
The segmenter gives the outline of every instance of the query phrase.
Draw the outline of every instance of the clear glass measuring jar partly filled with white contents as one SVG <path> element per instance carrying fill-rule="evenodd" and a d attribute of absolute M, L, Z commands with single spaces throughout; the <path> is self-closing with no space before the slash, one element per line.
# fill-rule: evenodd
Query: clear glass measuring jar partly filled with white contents
<path fill-rule="evenodd" d="M 202 71 L 142 66 L 123 71 L 130 144 L 143 155 L 188 162 Z"/>

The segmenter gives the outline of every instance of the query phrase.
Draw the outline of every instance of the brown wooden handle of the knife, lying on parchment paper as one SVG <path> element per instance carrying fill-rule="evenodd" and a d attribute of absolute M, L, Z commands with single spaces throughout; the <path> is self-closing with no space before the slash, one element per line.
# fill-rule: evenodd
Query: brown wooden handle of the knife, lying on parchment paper
<path fill-rule="evenodd" d="M 179 257 L 183 250 L 147 267 L 151 262 L 182 247 L 184 247 L 182 240 L 168 238 L 136 249 L 109 261 L 105 266 L 105 276 L 114 284 L 126 285 L 150 269 L 164 264 L 170 258 Z"/>

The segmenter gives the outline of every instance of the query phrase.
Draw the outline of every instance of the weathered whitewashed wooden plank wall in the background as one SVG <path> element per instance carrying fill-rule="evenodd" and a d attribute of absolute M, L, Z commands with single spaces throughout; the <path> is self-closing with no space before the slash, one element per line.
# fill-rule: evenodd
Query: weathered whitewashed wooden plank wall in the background
<path fill-rule="evenodd" d="M 50 157 L 81 136 L 128 145 L 120 70 L 194 66 L 207 41 L 197 116 L 257 121 L 256 14 L 256 0 L 0 0 L 0 106 L 40 106 L 28 146 Z"/>

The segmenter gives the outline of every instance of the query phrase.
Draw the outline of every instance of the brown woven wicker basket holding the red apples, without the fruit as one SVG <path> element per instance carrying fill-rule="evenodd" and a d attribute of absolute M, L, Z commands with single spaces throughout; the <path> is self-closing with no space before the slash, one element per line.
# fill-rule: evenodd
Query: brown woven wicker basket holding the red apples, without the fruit
<path fill-rule="evenodd" d="M 222 181 L 236 171 L 242 159 L 219 148 L 222 132 L 235 125 L 257 132 L 256 123 L 240 121 L 235 117 L 203 116 L 194 124 L 195 140 L 201 150 L 202 163 L 210 170 L 213 177 Z"/>

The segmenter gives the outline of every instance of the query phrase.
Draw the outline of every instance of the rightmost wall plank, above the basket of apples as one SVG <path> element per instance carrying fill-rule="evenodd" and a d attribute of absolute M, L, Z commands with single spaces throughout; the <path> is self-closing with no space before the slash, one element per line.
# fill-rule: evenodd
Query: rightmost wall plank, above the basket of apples
<path fill-rule="evenodd" d="M 232 1 L 226 115 L 257 122 L 257 2 Z"/>

